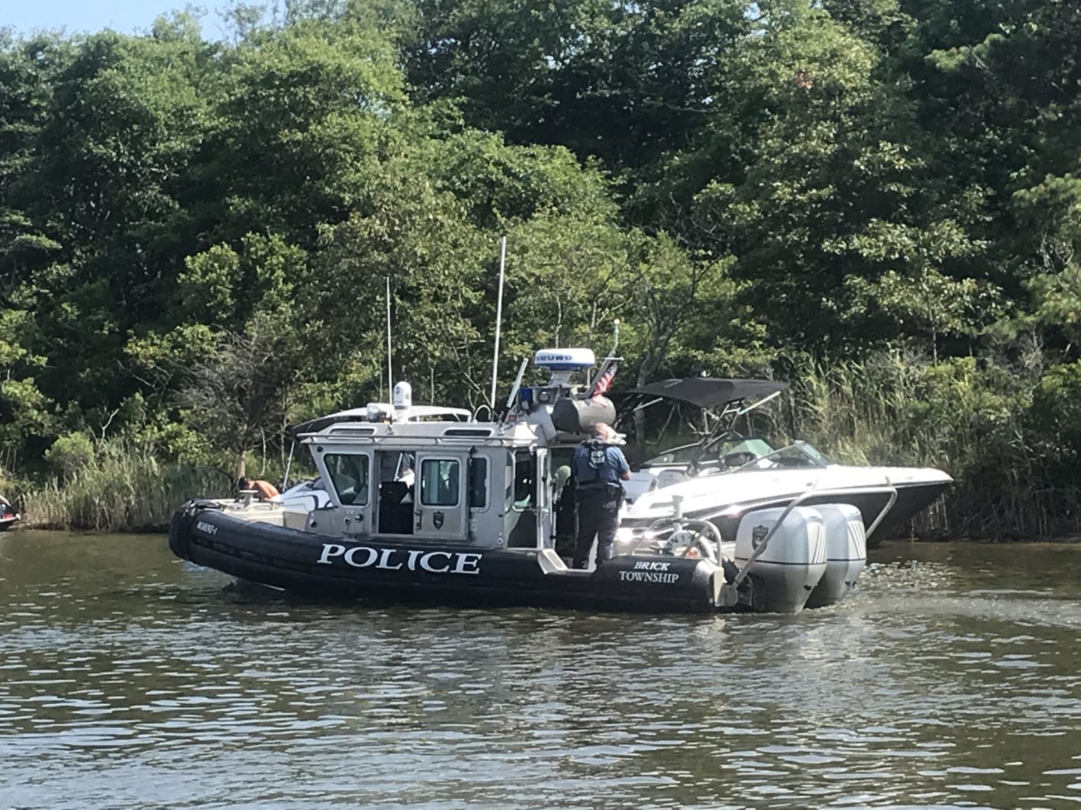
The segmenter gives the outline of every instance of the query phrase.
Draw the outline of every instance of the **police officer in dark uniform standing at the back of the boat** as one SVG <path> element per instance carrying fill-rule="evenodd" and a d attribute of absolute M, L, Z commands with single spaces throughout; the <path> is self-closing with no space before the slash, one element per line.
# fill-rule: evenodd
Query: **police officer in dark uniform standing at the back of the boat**
<path fill-rule="evenodd" d="M 592 438 L 578 445 L 571 460 L 571 474 L 578 499 L 575 568 L 587 567 L 595 537 L 597 564 L 612 556 L 612 541 L 619 527 L 619 505 L 623 503 L 623 485 L 619 482 L 630 477 L 630 465 L 623 450 L 609 444 L 615 431 L 604 422 L 598 422 L 592 433 Z"/>

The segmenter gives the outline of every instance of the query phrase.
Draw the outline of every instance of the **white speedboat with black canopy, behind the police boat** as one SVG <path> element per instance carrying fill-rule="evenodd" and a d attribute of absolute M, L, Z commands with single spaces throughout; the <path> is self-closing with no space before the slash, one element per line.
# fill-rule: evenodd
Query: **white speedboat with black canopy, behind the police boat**
<path fill-rule="evenodd" d="M 881 507 L 878 492 L 889 486 L 897 492 L 896 502 L 884 519 L 868 531 L 868 543 L 875 545 L 926 509 L 952 483 L 942 470 L 835 464 L 805 442 L 777 447 L 764 438 L 736 432 L 740 417 L 786 388 L 787 383 L 774 380 L 690 377 L 631 391 L 628 404 L 637 407 L 668 401 L 709 409 L 713 411 L 713 427 L 696 444 L 672 448 L 635 465 L 625 485 L 625 525 L 649 523 L 658 510 L 664 510 L 660 504 L 678 495 L 688 514 L 716 521 L 722 534 L 730 534 L 740 509 L 784 507 L 815 487 L 844 489 L 849 492 L 845 502 L 857 507 L 870 527 Z"/>

